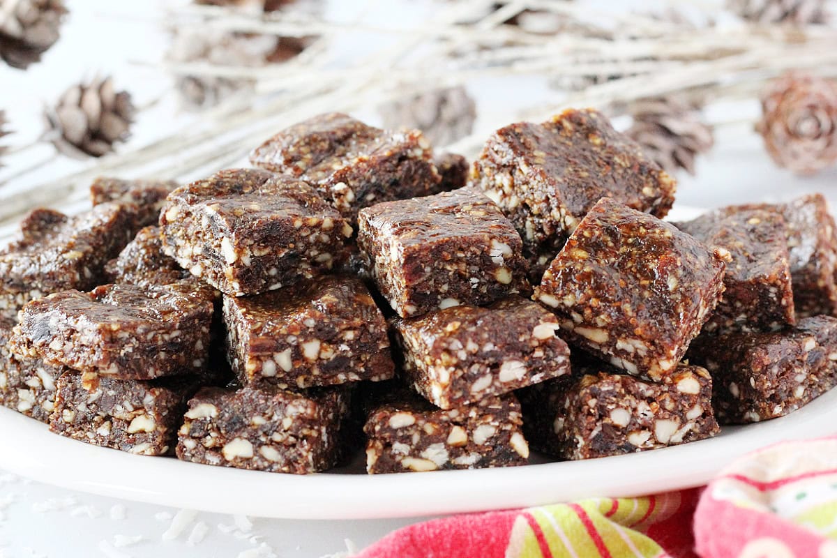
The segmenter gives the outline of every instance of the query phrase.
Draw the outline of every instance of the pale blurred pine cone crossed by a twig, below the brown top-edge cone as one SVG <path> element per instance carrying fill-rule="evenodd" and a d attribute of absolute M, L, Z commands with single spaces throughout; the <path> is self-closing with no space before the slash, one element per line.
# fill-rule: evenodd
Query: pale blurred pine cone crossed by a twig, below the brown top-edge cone
<path fill-rule="evenodd" d="M 254 68 L 267 63 L 279 48 L 275 35 L 244 35 L 224 33 L 211 36 L 201 32 L 177 31 L 168 58 L 174 62 L 208 62 L 233 67 Z M 217 105 L 223 99 L 241 91 L 252 90 L 253 79 L 236 79 L 212 75 L 185 75 L 177 79 L 188 108 L 202 109 Z"/>

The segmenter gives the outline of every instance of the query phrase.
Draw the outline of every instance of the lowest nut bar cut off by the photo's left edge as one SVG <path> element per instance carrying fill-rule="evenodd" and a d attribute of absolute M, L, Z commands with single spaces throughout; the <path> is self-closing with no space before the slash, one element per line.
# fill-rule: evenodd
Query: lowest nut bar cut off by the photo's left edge
<path fill-rule="evenodd" d="M 27 346 L 15 346 L 11 320 L 0 320 L 0 404 L 41 422 L 49 421 L 55 402 L 55 382 L 67 368 L 44 363 Z"/>

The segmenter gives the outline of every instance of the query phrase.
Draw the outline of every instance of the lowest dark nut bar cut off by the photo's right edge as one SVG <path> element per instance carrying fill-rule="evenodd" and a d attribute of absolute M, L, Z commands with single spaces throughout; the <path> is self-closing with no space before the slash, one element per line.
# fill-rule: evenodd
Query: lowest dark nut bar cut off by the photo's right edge
<path fill-rule="evenodd" d="M 837 319 L 803 318 L 777 332 L 701 335 L 688 358 L 710 371 L 721 424 L 781 417 L 837 385 Z"/>

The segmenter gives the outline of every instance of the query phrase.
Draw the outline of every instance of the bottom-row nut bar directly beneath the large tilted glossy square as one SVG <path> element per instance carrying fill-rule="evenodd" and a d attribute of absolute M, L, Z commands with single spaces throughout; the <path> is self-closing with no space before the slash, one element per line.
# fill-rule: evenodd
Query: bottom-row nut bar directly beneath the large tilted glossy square
<path fill-rule="evenodd" d="M 719 432 L 711 377 L 700 366 L 678 365 L 670 383 L 652 383 L 583 360 L 573 363 L 573 376 L 517 392 L 532 448 L 564 459 L 601 458 Z"/>

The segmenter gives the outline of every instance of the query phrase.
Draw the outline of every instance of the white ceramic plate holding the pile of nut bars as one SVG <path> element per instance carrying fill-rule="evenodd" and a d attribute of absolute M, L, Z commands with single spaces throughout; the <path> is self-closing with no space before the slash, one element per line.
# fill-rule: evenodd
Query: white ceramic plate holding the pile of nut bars
<path fill-rule="evenodd" d="M 679 207 L 671 219 L 701 211 Z M 788 417 L 725 427 L 710 440 L 588 461 L 526 467 L 366 475 L 358 463 L 297 476 L 148 458 L 49 433 L 0 407 L 0 468 L 44 483 L 116 498 L 227 514 L 367 519 L 549 504 L 590 496 L 650 494 L 705 484 L 732 459 L 770 443 L 837 432 L 837 390 Z M 355 474 L 352 474 L 355 473 Z"/>

